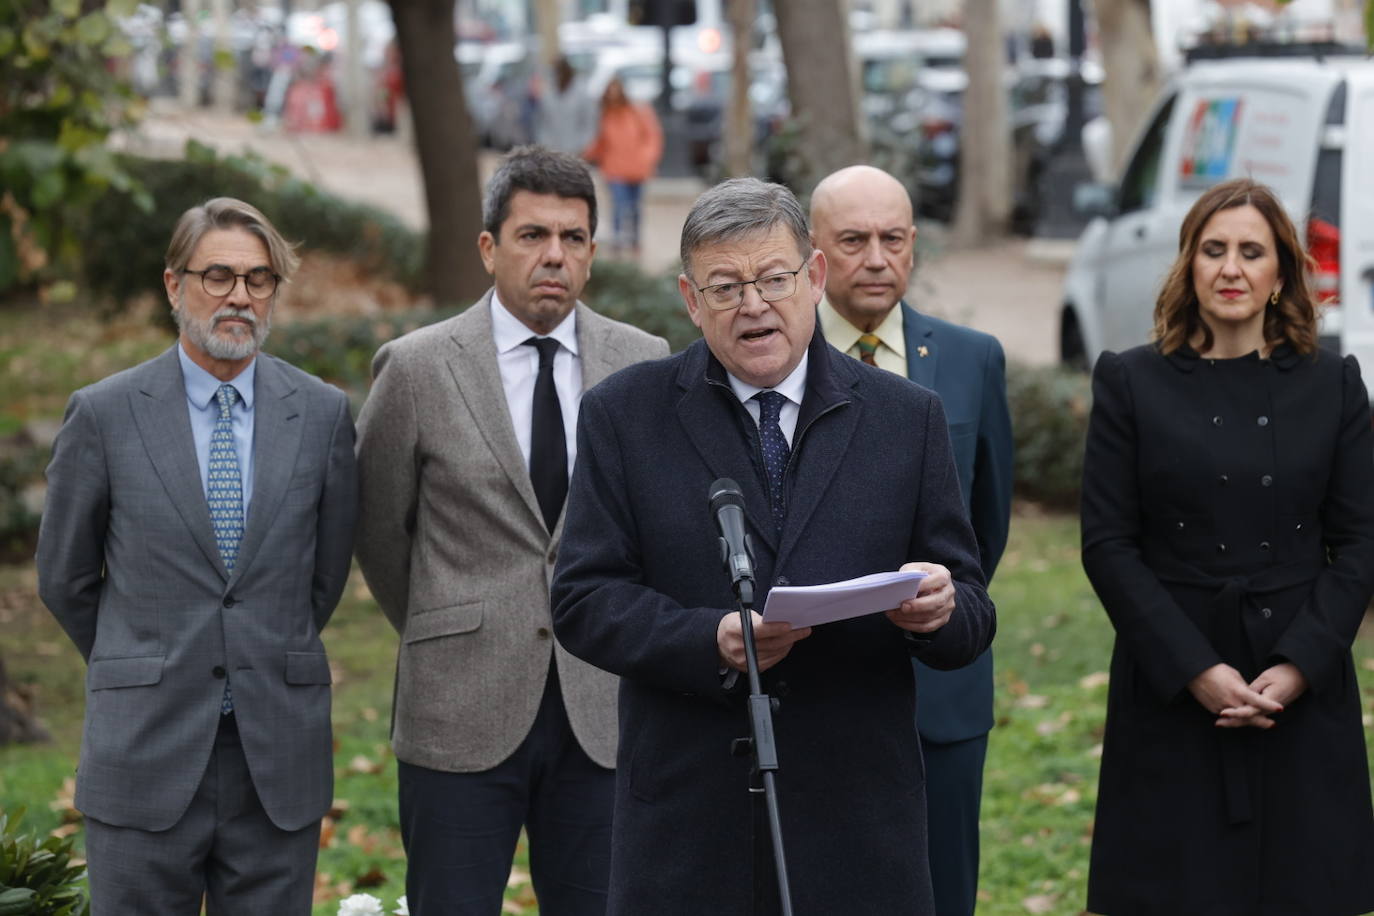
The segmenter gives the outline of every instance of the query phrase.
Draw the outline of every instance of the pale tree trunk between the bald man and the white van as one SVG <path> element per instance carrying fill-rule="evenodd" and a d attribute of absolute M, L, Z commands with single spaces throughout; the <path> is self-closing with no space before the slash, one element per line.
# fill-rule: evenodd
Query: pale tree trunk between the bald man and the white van
<path fill-rule="evenodd" d="M 965 0 L 965 66 L 959 132 L 959 203 L 954 243 L 982 244 L 1006 235 L 1011 216 L 1011 128 L 1002 85 L 1003 47 L 998 0 Z"/>

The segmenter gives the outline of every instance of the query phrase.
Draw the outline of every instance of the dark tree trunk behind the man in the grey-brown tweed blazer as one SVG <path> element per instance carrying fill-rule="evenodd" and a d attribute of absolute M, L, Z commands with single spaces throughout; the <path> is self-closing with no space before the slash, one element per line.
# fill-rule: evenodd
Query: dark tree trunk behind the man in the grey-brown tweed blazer
<path fill-rule="evenodd" d="M 452 0 L 390 0 L 429 211 L 426 276 L 436 305 L 471 302 L 489 286 L 477 236 L 477 141 L 453 59 Z"/>

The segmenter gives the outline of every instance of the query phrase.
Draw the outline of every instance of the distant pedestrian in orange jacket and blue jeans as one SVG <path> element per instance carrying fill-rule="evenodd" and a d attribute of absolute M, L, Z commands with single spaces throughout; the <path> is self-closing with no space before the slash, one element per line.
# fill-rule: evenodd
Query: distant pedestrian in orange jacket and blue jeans
<path fill-rule="evenodd" d="M 664 155 L 664 132 L 654 110 L 625 95 L 620 77 L 602 93 L 600 122 L 585 159 L 600 168 L 611 199 L 611 251 L 639 258 L 639 222 L 644 181 Z"/>

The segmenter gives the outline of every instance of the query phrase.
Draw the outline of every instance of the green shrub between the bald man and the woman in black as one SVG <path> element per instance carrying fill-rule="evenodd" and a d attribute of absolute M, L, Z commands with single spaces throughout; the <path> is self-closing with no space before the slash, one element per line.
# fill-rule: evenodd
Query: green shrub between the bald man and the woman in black
<path fill-rule="evenodd" d="M 1007 367 L 1015 441 L 1015 493 L 1048 508 L 1077 511 L 1092 387 L 1058 367 Z"/>

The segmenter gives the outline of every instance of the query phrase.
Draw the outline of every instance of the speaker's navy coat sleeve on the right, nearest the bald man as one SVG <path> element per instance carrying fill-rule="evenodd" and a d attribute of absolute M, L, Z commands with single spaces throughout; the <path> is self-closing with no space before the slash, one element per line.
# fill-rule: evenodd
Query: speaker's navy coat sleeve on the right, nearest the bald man
<path fill-rule="evenodd" d="M 949 570 L 955 610 L 944 626 L 926 637 L 908 632 L 907 645 L 922 663 L 949 670 L 969 665 L 992 644 L 998 618 L 959 490 L 949 424 L 937 397 L 929 401 L 918 441 L 925 444 L 925 460 L 911 533 L 911 560 L 940 563 Z"/>

